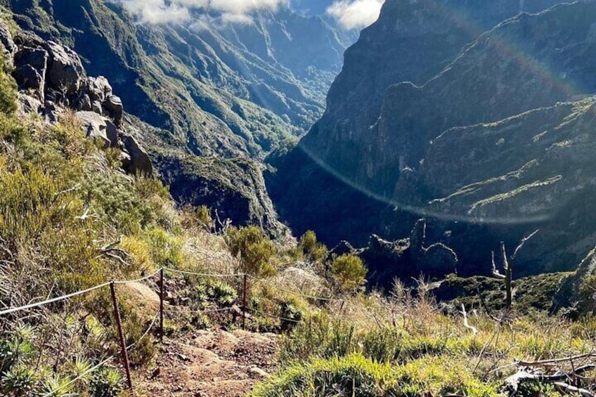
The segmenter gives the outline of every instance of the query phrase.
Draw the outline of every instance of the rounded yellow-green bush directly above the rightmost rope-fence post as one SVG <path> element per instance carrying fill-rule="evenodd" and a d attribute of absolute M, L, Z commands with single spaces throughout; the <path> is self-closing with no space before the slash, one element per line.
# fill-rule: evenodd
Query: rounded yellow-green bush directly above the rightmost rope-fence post
<path fill-rule="evenodd" d="M 274 273 L 270 260 L 276 254 L 276 246 L 261 229 L 231 227 L 226 233 L 226 243 L 232 255 L 240 259 L 243 273 L 257 276 Z"/>

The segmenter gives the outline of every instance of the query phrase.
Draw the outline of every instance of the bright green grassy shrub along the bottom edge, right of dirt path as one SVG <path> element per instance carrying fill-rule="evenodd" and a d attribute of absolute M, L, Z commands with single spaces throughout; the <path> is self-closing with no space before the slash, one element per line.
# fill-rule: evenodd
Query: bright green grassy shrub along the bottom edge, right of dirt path
<path fill-rule="evenodd" d="M 257 385 L 252 397 L 273 396 L 498 396 L 495 385 L 475 379 L 461 363 L 425 358 L 401 366 L 361 355 L 316 359 Z"/>

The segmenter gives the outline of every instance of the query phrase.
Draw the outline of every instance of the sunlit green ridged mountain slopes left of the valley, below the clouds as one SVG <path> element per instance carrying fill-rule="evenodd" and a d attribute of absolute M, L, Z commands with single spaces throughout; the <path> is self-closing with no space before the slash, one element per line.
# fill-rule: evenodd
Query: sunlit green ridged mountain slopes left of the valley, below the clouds
<path fill-rule="evenodd" d="M 242 179 L 232 185 L 251 186 L 240 196 L 252 202 L 243 207 L 252 212 L 241 218 L 264 224 L 273 234 L 284 229 L 271 202 L 261 207 L 268 200 L 264 183 L 253 185 L 262 181 L 260 160 L 292 145 L 322 114 L 323 92 L 341 68 L 349 35 L 289 8 L 255 13 L 248 24 L 205 25 L 199 21 L 216 15 L 193 15 L 193 24 L 149 24 L 111 1 L 2 4 L 20 27 L 71 47 L 89 74 L 107 77 L 115 92 L 126 93 L 121 94 L 125 117 L 138 124 L 145 148 L 160 160 L 157 170 L 170 183 L 197 178 L 160 164 L 188 160 L 187 168 L 196 170 L 197 164 L 219 162 L 215 169 L 223 172 L 209 174 L 213 167 L 199 167 L 201 181 L 209 181 L 212 192 L 227 192 L 229 178 L 222 175 Z M 238 162 L 254 164 L 244 168 L 250 172 L 239 172 Z M 179 197 L 193 204 L 203 198 Z M 231 204 L 219 210 L 237 211 Z"/>

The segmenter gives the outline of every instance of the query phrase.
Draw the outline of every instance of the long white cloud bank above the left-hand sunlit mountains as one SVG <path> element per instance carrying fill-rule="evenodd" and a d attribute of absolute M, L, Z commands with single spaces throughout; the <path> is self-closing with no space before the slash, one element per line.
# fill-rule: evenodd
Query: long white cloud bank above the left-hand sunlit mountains
<path fill-rule="evenodd" d="M 195 19 L 192 11 L 220 13 L 221 22 L 248 23 L 250 13 L 276 10 L 288 0 L 108 0 L 124 5 L 146 23 L 185 23 Z M 204 22 L 204 21 L 203 21 Z"/>

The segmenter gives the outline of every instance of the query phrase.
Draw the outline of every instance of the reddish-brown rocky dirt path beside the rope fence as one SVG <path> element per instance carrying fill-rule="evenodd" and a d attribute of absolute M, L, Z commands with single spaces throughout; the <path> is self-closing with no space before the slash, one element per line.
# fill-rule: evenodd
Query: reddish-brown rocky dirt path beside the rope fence
<path fill-rule="evenodd" d="M 159 349 L 158 373 L 138 374 L 141 396 L 240 397 L 275 370 L 274 334 L 197 331 Z"/>

